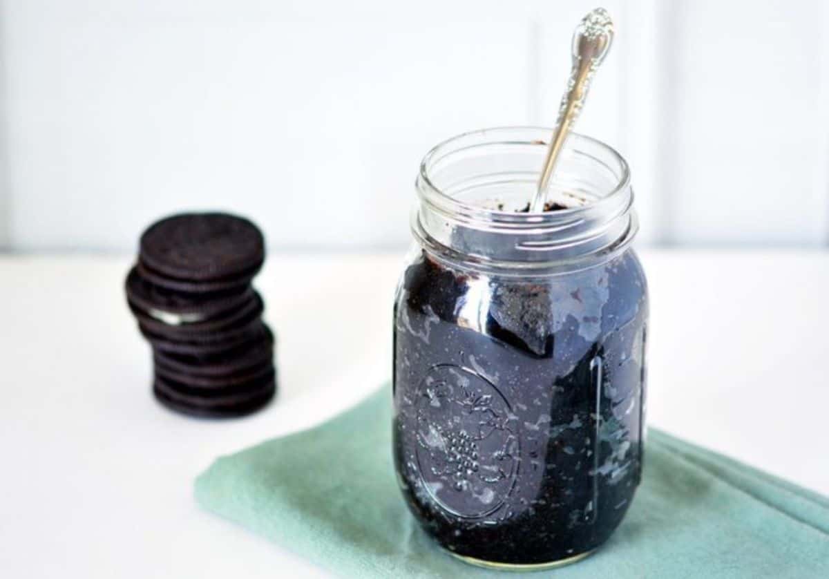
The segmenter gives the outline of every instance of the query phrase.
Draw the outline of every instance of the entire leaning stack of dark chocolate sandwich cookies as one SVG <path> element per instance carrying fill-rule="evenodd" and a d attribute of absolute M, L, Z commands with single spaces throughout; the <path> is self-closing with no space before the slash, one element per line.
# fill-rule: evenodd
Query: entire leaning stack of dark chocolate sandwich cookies
<path fill-rule="evenodd" d="M 241 217 L 182 213 L 144 231 L 127 301 L 153 345 L 162 404 L 242 416 L 274 397 L 274 336 L 250 285 L 263 262 L 262 233 Z"/>

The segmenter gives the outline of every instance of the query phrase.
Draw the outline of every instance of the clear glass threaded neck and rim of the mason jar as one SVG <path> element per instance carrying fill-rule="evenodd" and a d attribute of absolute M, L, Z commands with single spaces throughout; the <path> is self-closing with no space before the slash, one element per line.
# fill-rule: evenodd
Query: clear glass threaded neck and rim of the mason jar
<path fill-rule="evenodd" d="M 482 129 L 434 147 L 415 182 L 415 238 L 474 269 L 582 269 L 624 251 L 638 229 L 628 163 L 599 140 L 568 138 L 548 196 L 566 209 L 520 211 L 535 192 L 551 134 Z"/>

